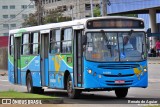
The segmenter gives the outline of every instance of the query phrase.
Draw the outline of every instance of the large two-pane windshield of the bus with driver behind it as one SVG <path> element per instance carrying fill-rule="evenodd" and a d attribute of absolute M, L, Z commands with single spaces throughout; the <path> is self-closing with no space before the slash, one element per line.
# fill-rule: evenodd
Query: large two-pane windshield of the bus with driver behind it
<path fill-rule="evenodd" d="M 144 32 L 88 32 L 86 35 L 87 60 L 118 62 L 145 59 Z"/>

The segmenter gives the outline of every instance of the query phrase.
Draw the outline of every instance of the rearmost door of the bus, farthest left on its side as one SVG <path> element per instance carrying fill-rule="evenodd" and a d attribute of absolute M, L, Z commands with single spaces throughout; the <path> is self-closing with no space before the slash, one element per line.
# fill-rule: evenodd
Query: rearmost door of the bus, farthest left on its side
<path fill-rule="evenodd" d="M 15 37 L 14 39 L 14 83 L 20 84 L 21 80 L 21 37 Z"/>

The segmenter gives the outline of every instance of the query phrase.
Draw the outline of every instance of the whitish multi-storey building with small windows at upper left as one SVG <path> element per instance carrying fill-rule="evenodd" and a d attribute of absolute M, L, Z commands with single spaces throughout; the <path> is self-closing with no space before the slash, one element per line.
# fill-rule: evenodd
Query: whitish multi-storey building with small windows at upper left
<path fill-rule="evenodd" d="M 0 35 L 8 36 L 9 29 L 22 27 L 24 19 L 35 12 L 30 0 L 0 0 Z"/>

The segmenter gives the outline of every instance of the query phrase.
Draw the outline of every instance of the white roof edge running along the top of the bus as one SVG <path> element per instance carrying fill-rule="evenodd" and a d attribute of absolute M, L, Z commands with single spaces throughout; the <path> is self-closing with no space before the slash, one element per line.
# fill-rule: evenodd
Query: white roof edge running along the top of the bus
<path fill-rule="evenodd" d="M 92 17 L 92 18 L 84 18 L 84 19 L 78 19 L 78 20 L 73 20 L 73 21 L 51 23 L 51 24 L 45 24 L 45 25 L 39 25 L 39 26 L 14 29 L 14 30 L 10 30 L 9 33 L 15 34 L 15 33 L 23 33 L 23 32 L 34 32 L 34 31 L 47 30 L 47 29 L 52 29 L 52 28 L 63 28 L 63 27 L 70 27 L 70 26 L 76 26 L 76 25 L 84 25 L 85 26 L 85 24 L 88 20 L 112 19 L 112 18 L 123 18 L 123 19 L 133 19 L 133 20 L 143 21 L 143 19 L 141 19 L 141 18 L 124 17 L 124 16 Z"/>

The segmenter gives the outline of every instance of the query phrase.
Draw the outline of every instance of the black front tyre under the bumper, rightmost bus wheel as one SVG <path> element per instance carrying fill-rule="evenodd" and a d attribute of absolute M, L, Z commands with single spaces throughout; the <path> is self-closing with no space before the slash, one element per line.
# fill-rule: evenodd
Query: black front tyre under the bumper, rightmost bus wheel
<path fill-rule="evenodd" d="M 127 96 L 127 93 L 128 93 L 128 88 L 115 89 L 115 94 L 117 98 L 125 98 Z"/>

